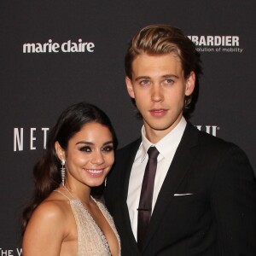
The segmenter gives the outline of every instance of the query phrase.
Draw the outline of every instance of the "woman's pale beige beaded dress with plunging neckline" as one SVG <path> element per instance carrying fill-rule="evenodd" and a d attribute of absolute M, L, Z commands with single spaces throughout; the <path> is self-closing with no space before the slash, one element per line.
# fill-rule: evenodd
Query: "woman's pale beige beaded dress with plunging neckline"
<path fill-rule="evenodd" d="M 73 211 L 73 216 L 78 230 L 77 256 L 111 256 L 106 237 L 104 236 L 99 226 L 96 224 L 95 220 L 91 217 L 90 213 L 84 207 L 82 202 L 75 198 L 68 190 L 67 192 L 69 192 L 72 198 L 63 194 L 59 190 L 55 190 L 55 192 L 59 192 L 61 195 L 68 199 L 70 207 Z M 113 224 L 113 218 L 109 214 L 107 208 L 102 204 L 102 202 L 96 201 L 93 197 L 91 198 L 96 202 L 97 207 L 99 207 L 103 216 L 108 221 L 109 226 L 112 228 L 113 233 L 117 237 L 119 243 L 119 255 L 121 255 L 119 235 Z"/>

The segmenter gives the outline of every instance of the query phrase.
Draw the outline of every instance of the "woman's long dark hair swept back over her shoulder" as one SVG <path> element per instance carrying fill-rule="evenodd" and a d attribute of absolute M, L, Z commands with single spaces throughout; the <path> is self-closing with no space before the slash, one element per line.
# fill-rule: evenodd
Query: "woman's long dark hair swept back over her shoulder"
<path fill-rule="evenodd" d="M 26 207 L 22 215 L 22 235 L 26 224 L 32 216 L 32 212 L 45 198 L 61 183 L 61 162 L 55 151 L 55 142 L 59 142 L 61 148 L 67 150 L 68 141 L 88 123 L 96 122 L 108 127 L 113 137 L 113 148 L 118 145 L 113 125 L 108 115 L 100 108 L 87 102 L 80 102 L 70 106 L 61 113 L 55 126 L 49 131 L 44 156 L 33 168 L 34 192 L 32 201 Z"/>

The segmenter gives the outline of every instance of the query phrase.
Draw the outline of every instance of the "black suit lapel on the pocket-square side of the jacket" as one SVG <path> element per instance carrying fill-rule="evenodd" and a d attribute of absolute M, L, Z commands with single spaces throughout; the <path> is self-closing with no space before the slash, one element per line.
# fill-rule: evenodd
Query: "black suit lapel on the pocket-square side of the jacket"
<path fill-rule="evenodd" d="M 197 141 L 198 131 L 193 125 L 188 123 L 154 206 L 154 212 L 150 221 L 144 248 L 147 246 L 152 236 L 154 236 L 154 232 L 163 214 L 166 212 L 166 207 L 172 203 L 172 198 L 177 191 L 178 185 L 182 182 L 183 177 L 189 170 L 190 163 L 194 160 L 196 150 L 192 148 L 195 147 Z"/>

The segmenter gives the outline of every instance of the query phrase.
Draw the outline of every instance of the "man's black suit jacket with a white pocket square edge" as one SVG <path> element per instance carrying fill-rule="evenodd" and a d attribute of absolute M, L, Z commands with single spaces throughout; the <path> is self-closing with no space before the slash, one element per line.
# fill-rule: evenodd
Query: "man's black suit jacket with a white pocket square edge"
<path fill-rule="evenodd" d="M 247 156 L 236 145 L 189 123 L 160 189 L 140 254 L 126 205 L 140 143 L 141 139 L 117 151 L 105 190 L 123 256 L 256 255 L 256 184 Z"/>

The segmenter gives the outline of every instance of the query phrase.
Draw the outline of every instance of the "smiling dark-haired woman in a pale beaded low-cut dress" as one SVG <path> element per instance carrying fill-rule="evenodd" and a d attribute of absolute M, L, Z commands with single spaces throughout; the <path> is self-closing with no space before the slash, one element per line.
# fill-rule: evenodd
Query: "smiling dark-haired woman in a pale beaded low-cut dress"
<path fill-rule="evenodd" d="M 23 256 L 120 255 L 113 219 L 91 195 L 114 160 L 108 116 L 88 103 L 61 113 L 34 167 L 32 203 L 23 212 Z"/>

